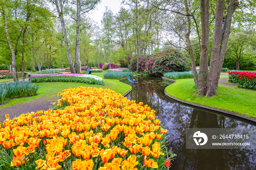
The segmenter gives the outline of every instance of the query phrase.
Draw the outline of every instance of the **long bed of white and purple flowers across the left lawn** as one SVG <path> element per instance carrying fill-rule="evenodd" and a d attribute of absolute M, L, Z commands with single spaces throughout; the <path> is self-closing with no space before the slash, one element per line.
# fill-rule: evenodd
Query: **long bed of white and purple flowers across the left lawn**
<path fill-rule="evenodd" d="M 54 74 L 31 76 L 31 82 L 79 82 L 85 84 L 104 85 L 102 78 L 99 76 L 86 76 L 83 74 Z"/>

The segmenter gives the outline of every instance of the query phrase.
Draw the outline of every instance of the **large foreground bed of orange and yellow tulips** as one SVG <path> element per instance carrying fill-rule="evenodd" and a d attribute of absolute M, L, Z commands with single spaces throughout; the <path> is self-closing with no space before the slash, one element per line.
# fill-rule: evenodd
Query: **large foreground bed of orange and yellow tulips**
<path fill-rule="evenodd" d="M 1 169 L 140 170 L 170 166 L 155 111 L 109 89 L 69 88 L 53 109 L 7 119 Z M 67 105 L 63 107 L 63 104 Z M 68 104 L 67 104 L 68 103 Z"/>

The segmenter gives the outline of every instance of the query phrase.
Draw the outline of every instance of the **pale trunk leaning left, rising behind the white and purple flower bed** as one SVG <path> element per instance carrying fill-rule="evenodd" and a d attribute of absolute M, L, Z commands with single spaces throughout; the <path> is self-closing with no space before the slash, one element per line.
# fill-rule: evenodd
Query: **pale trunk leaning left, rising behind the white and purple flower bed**
<path fill-rule="evenodd" d="M 66 28 L 65 28 L 64 16 L 63 16 L 63 10 L 62 10 L 63 7 L 61 7 L 61 10 L 60 10 L 58 0 L 55 0 L 55 4 L 56 4 L 57 11 L 58 11 L 59 18 L 60 18 L 63 40 L 64 40 L 65 46 L 67 48 L 69 68 L 70 68 L 71 73 L 74 74 L 75 73 L 75 68 L 74 68 L 74 63 L 72 62 L 72 57 L 71 57 L 71 54 L 70 54 L 68 40 L 67 40 L 67 32 L 66 32 Z"/>

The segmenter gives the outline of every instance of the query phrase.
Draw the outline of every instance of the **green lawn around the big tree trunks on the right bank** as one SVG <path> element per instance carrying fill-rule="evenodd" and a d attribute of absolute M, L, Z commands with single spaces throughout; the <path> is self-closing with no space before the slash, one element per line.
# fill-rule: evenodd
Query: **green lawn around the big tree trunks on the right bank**
<path fill-rule="evenodd" d="M 216 92 L 217 95 L 213 97 L 197 95 L 197 89 L 192 78 L 176 80 L 175 83 L 166 88 L 166 93 L 181 100 L 256 118 L 256 90 L 219 85 Z"/>

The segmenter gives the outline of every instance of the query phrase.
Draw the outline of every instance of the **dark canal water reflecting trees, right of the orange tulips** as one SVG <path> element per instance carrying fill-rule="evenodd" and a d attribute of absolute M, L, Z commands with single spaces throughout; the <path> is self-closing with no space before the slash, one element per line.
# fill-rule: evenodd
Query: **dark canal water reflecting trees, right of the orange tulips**
<path fill-rule="evenodd" d="M 170 169 L 194 170 L 252 170 L 256 169 L 256 150 L 249 149 L 186 149 L 186 128 L 255 128 L 255 124 L 226 117 L 216 113 L 188 107 L 165 96 L 170 81 L 160 77 L 139 77 L 138 84 L 132 84 L 129 100 L 143 102 L 154 109 L 156 116 L 168 129 L 170 147 L 176 159 Z M 128 80 L 122 82 L 129 84 Z"/>

